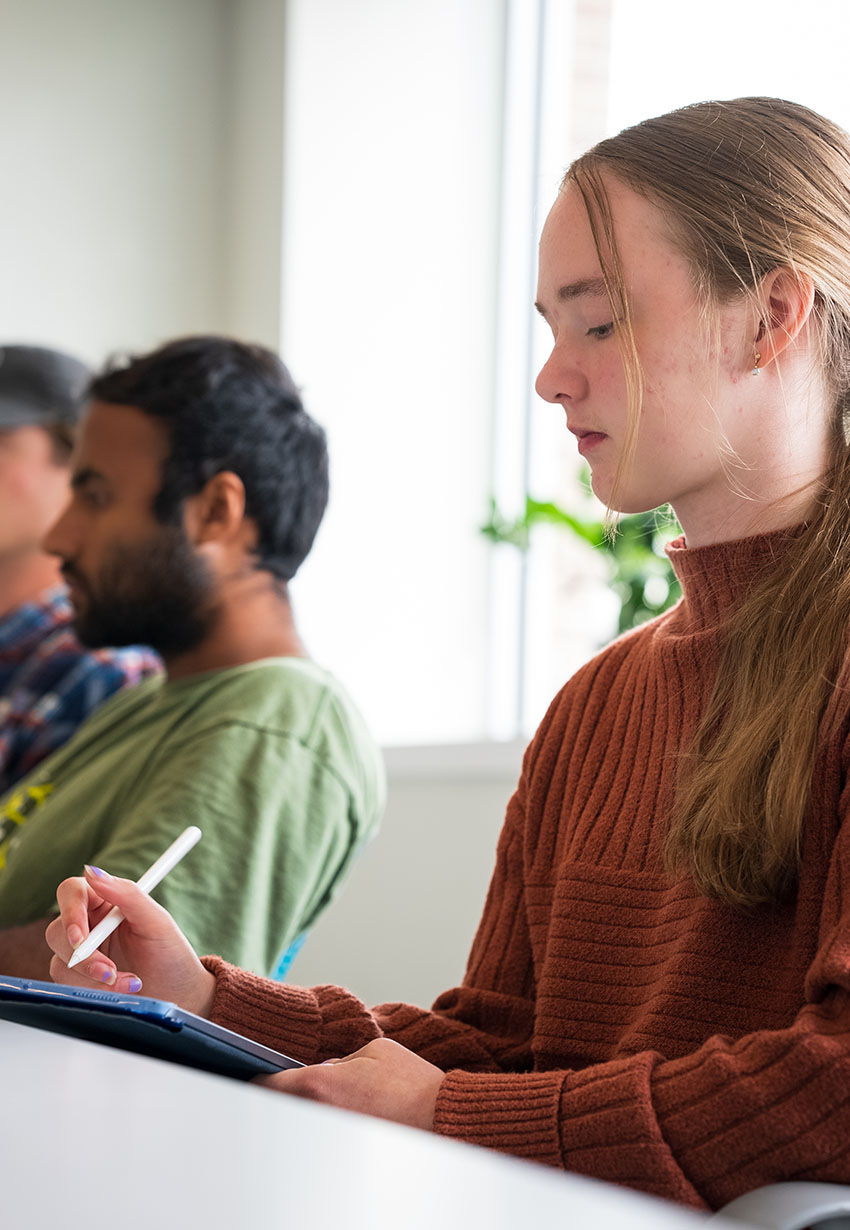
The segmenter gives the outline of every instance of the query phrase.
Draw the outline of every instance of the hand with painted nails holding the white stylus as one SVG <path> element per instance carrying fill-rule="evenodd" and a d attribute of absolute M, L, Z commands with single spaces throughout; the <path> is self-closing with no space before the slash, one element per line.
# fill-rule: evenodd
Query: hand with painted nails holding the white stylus
<path fill-rule="evenodd" d="M 85 878 L 59 884 L 57 900 L 59 918 L 44 932 L 55 953 L 50 962 L 55 983 L 108 986 L 130 994 L 144 988 L 146 995 L 171 1000 L 198 1016 L 209 1012 L 215 979 L 169 911 L 132 879 L 86 867 Z M 74 948 L 113 905 L 121 909 L 124 921 L 91 957 L 69 969 Z"/>

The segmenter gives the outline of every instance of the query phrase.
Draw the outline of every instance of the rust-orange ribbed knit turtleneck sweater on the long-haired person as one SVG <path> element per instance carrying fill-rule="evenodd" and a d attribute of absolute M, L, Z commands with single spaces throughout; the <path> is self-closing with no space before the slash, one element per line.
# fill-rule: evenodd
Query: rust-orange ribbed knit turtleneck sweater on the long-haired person
<path fill-rule="evenodd" d="M 718 620 L 782 542 L 674 545 L 683 600 L 555 699 L 461 986 L 369 1011 L 207 958 L 214 1018 L 308 1063 L 386 1034 L 447 1070 L 438 1132 L 686 1204 L 850 1181 L 850 695 L 824 718 L 793 904 L 739 913 L 661 867 Z"/>

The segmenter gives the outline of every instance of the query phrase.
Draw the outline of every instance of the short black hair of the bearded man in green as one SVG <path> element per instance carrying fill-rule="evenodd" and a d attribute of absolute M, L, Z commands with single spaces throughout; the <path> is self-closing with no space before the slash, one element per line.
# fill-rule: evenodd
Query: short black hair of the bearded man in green
<path fill-rule="evenodd" d="M 327 442 L 280 359 L 226 337 L 185 337 L 129 364 L 111 363 L 89 396 L 135 406 L 171 439 L 154 513 L 180 524 L 183 502 L 215 474 L 245 485 L 257 566 L 289 581 L 327 507 Z"/>

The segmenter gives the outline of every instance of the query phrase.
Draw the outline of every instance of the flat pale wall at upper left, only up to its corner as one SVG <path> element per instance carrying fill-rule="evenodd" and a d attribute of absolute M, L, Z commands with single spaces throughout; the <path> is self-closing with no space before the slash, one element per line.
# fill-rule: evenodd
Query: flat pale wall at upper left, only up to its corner
<path fill-rule="evenodd" d="M 221 60 L 216 0 L 0 2 L 0 337 L 220 323 Z"/>

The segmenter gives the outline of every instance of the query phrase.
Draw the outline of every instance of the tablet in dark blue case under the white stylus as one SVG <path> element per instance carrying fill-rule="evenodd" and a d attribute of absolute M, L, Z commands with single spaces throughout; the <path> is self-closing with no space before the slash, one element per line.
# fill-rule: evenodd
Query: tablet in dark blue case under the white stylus
<path fill-rule="evenodd" d="M 298 1059 L 186 1012 L 166 1000 L 0 974 L 0 1020 L 102 1042 L 188 1068 L 250 1080 Z"/>

